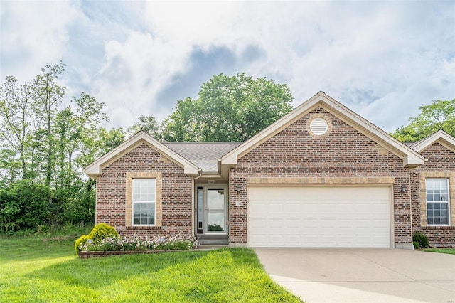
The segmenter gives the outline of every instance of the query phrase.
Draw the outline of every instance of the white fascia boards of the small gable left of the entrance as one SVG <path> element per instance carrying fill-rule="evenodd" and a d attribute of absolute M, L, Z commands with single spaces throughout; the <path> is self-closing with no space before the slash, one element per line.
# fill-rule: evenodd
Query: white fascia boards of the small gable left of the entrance
<path fill-rule="evenodd" d="M 192 164 L 190 161 L 184 159 L 182 156 L 177 154 L 175 151 L 169 149 L 164 144 L 161 144 L 160 142 L 156 141 L 156 139 L 150 137 L 149 134 L 146 134 L 143 131 L 138 132 L 137 134 L 135 134 L 134 136 L 120 144 L 118 147 L 112 149 L 112 151 L 109 151 L 107 154 L 101 156 L 99 159 L 97 159 L 92 164 L 87 166 L 87 168 L 85 168 L 85 174 L 92 177 L 96 177 L 97 175 L 101 174 L 102 164 L 104 164 L 106 161 L 109 161 L 109 159 L 113 159 L 118 154 L 122 154 L 122 152 L 126 151 L 129 147 L 131 147 L 132 145 L 136 144 L 141 140 L 148 143 L 151 147 L 156 149 L 156 151 L 165 154 L 169 159 L 181 165 L 183 167 L 183 172 L 185 174 L 192 175 L 199 174 L 200 169 L 197 166 Z"/>

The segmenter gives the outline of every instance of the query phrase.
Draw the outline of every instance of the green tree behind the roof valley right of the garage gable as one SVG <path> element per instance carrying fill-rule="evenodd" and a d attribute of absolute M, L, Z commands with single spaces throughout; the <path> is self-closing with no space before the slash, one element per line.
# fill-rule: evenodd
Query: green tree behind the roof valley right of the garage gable
<path fill-rule="evenodd" d="M 392 132 L 392 136 L 402 142 L 417 142 L 443 129 L 455 137 L 455 99 L 435 100 L 430 105 L 419 107 L 418 117 L 409 119 L 410 124 Z"/>

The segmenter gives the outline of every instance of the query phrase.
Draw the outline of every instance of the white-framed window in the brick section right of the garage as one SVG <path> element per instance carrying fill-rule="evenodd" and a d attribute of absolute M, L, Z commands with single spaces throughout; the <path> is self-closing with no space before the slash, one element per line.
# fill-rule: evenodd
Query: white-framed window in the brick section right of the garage
<path fill-rule="evenodd" d="M 449 179 L 426 179 L 428 225 L 449 225 Z"/>

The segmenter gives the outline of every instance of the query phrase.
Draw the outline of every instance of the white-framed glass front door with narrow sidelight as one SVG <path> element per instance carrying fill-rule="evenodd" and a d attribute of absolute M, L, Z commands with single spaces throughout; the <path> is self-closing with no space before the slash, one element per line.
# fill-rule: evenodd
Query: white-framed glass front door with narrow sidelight
<path fill-rule="evenodd" d="M 228 195 L 225 186 L 198 186 L 196 233 L 228 234 Z"/>

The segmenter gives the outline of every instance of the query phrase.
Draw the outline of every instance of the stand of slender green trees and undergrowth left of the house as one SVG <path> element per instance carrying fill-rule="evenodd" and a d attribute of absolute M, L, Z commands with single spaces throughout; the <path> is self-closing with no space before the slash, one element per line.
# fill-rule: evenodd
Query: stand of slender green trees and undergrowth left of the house
<path fill-rule="evenodd" d="M 95 181 L 82 169 L 124 139 L 103 103 L 82 92 L 62 108 L 63 63 L 45 65 L 30 82 L 0 87 L 0 230 L 91 223 Z"/>

